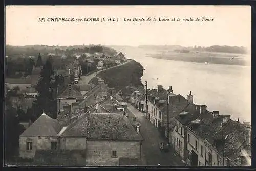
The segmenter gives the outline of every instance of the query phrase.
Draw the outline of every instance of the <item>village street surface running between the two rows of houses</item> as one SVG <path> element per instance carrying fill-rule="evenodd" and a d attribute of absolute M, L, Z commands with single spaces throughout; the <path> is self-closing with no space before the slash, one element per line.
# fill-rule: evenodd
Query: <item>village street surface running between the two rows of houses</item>
<path fill-rule="evenodd" d="M 139 112 L 130 103 L 127 104 L 127 108 L 136 116 L 136 120 L 141 124 L 140 133 L 144 138 L 142 152 L 147 165 L 185 166 L 182 159 L 174 154 L 172 148 L 170 148 L 169 152 L 160 151 L 159 143 L 166 142 L 166 140 L 161 136 L 158 129 L 145 118 L 144 113 Z"/>

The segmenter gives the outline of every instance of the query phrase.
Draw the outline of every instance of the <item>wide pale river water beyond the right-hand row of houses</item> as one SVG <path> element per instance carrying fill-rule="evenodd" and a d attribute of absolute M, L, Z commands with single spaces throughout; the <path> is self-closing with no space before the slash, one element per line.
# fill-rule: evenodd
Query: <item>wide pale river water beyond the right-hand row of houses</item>
<path fill-rule="evenodd" d="M 189 91 L 194 103 L 207 105 L 209 111 L 230 114 L 231 119 L 251 122 L 250 66 L 173 61 L 148 57 L 148 50 L 113 46 L 127 58 L 139 62 L 145 70 L 141 78 L 148 88 L 172 86 L 175 94 L 186 97 Z"/>

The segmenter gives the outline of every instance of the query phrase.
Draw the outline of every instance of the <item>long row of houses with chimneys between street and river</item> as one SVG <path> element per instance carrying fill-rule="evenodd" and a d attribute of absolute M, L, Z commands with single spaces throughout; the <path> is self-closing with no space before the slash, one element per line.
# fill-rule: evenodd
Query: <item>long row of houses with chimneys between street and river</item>
<path fill-rule="evenodd" d="M 139 87 L 131 103 L 158 128 L 176 153 L 191 166 L 243 166 L 251 162 L 251 126 L 220 111 L 196 105 L 194 96 Z"/>

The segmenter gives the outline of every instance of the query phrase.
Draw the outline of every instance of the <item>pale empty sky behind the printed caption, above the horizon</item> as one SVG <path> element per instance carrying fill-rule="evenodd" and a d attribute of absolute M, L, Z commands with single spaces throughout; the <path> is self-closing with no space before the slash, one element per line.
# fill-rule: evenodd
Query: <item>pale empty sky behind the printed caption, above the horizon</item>
<path fill-rule="evenodd" d="M 47 18 L 118 18 L 118 22 L 48 22 Z M 124 18 L 175 21 L 124 22 Z M 177 21 L 177 17 L 194 21 Z M 199 17 L 214 21 L 195 21 Z M 45 18 L 45 22 L 38 22 Z M 6 6 L 9 45 L 251 46 L 250 6 Z"/>

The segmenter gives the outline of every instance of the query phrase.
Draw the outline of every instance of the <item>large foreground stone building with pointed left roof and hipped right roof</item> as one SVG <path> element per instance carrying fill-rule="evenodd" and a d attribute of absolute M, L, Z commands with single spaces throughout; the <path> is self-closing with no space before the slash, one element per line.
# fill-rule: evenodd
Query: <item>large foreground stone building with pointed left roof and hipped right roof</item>
<path fill-rule="evenodd" d="M 87 113 L 61 125 L 43 113 L 20 135 L 19 154 L 34 158 L 38 165 L 48 165 L 47 161 L 65 166 L 119 166 L 131 161 L 142 165 L 142 141 L 123 114 Z"/>

